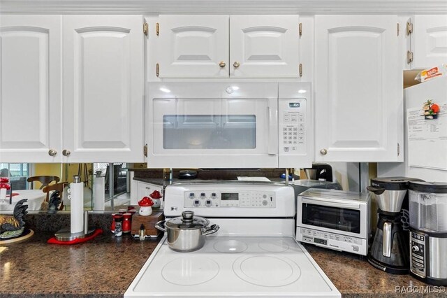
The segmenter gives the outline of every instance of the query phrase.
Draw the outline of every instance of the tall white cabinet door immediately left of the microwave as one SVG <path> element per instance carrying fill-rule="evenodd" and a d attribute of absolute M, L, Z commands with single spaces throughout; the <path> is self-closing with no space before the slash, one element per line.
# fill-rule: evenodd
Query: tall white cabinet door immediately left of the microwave
<path fill-rule="evenodd" d="M 141 162 L 142 16 L 64 17 L 66 162 Z"/>

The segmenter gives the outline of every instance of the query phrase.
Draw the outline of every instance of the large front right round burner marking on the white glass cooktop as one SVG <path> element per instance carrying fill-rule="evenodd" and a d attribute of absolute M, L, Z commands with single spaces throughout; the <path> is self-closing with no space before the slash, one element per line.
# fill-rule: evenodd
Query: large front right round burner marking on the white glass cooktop
<path fill-rule="evenodd" d="M 243 256 L 233 263 L 233 271 L 242 279 L 263 287 L 281 287 L 298 281 L 301 270 L 286 257 L 272 255 Z"/>

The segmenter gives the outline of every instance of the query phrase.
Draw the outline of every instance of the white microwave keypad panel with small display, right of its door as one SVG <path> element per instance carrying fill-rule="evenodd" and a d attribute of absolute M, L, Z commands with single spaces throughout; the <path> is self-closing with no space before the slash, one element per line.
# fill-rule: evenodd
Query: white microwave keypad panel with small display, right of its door
<path fill-rule="evenodd" d="M 306 106 L 305 98 L 279 101 L 279 154 L 306 155 Z"/>

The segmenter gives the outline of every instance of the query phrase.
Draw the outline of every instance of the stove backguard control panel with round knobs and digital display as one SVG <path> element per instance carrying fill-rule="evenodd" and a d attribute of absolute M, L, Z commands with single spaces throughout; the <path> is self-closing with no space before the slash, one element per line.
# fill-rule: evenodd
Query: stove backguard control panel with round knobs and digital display
<path fill-rule="evenodd" d="M 275 208 L 274 192 L 268 191 L 186 191 L 185 208 Z"/>

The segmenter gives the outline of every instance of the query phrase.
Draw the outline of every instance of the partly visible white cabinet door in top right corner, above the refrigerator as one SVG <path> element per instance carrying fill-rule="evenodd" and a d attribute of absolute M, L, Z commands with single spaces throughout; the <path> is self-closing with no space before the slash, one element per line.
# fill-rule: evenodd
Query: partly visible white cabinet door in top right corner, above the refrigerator
<path fill-rule="evenodd" d="M 447 15 L 415 15 L 411 51 L 412 69 L 447 63 Z"/>

